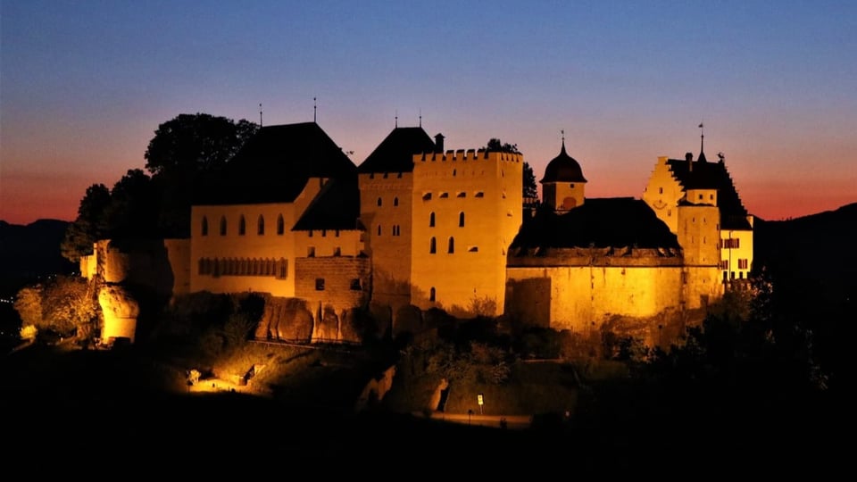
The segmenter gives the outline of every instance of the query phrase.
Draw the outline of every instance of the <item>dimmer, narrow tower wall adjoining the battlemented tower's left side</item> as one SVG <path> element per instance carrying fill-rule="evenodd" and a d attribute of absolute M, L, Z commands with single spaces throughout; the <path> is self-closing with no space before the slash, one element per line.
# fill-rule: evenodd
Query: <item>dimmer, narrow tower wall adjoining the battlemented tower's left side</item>
<path fill-rule="evenodd" d="M 372 300 L 393 312 L 411 303 L 412 172 L 359 176 L 360 220 L 372 260 Z"/>

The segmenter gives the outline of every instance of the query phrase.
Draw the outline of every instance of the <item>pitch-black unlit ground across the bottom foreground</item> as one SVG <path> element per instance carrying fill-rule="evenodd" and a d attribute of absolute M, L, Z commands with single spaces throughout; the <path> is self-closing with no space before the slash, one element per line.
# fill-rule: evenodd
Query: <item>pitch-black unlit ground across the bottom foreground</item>
<path fill-rule="evenodd" d="M 652 420 L 650 413 L 605 412 L 528 429 L 487 428 L 250 395 L 182 393 L 147 381 L 127 360 L 94 357 L 102 364 L 76 366 L 45 350 L 33 347 L 0 365 L 6 471 L 135 480 L 824 479 L 846 467 L 850 446 L 850 423 L 832 412 L 795 413 L 793 423 L 781 423 L 776 407 L 770 418 L 736 418 L 739 411 L 688 417 L 695 411 L 687 410 L 677 413 L 679 420 Z"/>

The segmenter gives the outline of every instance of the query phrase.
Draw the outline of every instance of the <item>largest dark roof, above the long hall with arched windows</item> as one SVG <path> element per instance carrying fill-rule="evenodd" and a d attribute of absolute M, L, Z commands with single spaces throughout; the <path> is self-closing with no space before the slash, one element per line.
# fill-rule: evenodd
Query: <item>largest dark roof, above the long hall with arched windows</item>
<path fill-rule="evenodd" d="M 267 126 L 206 183 L 194 204 L 291 203 L 309 178 L 355 172 L 354 162 L 315 122 Z"/>

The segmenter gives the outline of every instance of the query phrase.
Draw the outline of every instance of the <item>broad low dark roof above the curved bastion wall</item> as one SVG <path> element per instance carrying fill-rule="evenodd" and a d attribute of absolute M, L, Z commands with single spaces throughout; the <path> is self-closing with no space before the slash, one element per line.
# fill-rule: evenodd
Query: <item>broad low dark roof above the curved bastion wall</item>
<path fill-rule="evenodd" d="M 677 248 L 678 238 L 645 201 L 631 197 L 587 199 L 569 212 L 538 212 L 526 221 L 512 248 Z"/>

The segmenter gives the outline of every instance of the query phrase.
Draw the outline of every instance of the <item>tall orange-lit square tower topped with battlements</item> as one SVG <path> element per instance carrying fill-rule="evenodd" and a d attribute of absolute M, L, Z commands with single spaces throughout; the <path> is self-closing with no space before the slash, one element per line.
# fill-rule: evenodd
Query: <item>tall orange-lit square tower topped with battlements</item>
<path fill-rule="evenodd" d="M 501 314 L 506 250 L 523 215 L 523 156 L 460 150 L 418 154 L 414 164 L 412 303 Z"/>

